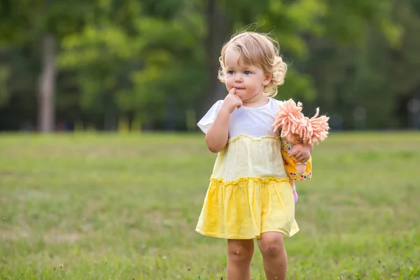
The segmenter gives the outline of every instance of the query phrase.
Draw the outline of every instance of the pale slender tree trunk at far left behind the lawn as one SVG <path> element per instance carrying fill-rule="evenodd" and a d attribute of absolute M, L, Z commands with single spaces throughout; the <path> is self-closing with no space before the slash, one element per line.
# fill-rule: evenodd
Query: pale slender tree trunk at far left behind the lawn
<path fill-rule="evenodd" d="M 55 45 L 50 34 L 43 36 L 42 73 L 39 89 L 38 123 L 41 132 L 52 132 L 55 123 Z"/>

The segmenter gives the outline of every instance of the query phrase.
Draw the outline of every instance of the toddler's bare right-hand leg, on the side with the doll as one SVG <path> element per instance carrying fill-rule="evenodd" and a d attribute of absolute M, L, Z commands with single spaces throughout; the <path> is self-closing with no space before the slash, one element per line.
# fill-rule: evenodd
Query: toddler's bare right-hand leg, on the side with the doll
<path fill-rule="evenodd" d="M 281 232 L 264 232 L 258 239 L 267 280 L 285 280 L 287 255 Z"/>

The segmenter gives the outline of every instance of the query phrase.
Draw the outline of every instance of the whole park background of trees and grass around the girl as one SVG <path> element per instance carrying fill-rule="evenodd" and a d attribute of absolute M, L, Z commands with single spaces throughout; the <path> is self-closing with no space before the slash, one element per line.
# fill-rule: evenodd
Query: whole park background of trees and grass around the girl
<path fill-rule="evenodd" d="M 420 279 L 419 0 L 0 0 L 0 279 L 226 279 L 196 123 L 250 24 L 332 128 L 288 279 Z"/>

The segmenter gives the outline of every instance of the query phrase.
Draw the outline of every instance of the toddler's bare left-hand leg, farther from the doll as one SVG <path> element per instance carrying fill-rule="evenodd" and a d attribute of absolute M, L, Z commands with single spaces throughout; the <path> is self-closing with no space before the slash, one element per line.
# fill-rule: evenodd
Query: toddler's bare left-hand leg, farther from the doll
<path fill-rule="evenodd" d="M 253 239 L 228 239 L 228 280 L 251 279 Z"/>

